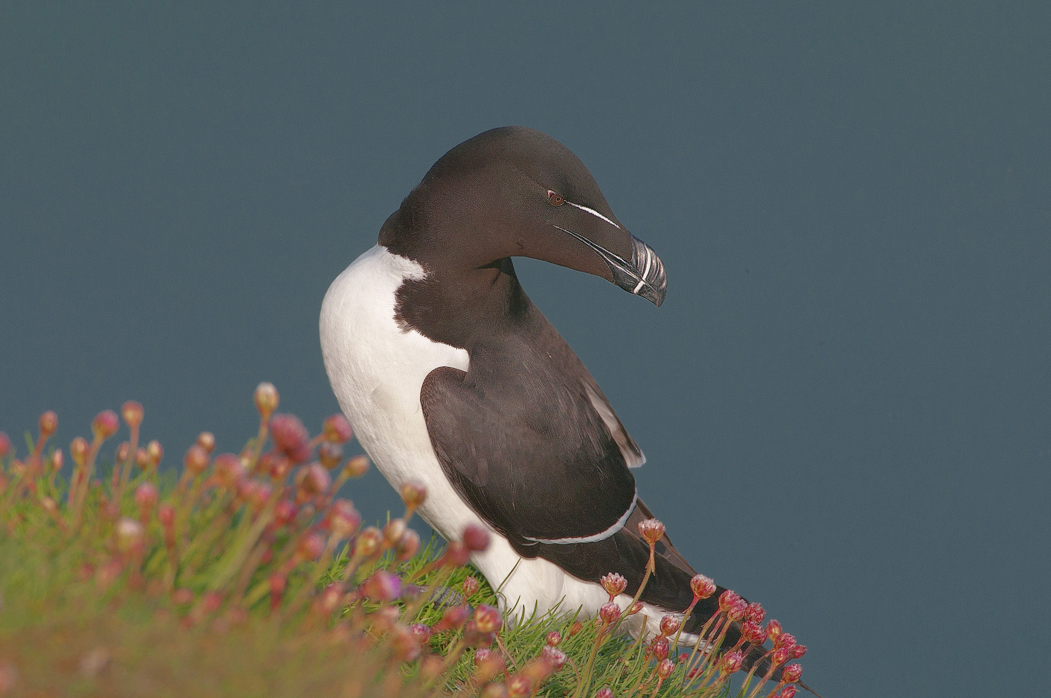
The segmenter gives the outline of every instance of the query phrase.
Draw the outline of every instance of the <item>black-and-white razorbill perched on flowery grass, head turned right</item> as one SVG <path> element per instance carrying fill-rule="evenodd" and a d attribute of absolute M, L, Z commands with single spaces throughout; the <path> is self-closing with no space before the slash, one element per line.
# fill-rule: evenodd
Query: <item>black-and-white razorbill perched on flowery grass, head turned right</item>
<path fill-rule="evenodd" d="M 600 276 L 657 307 L 667 290 L 660 258 L 580 159 L 539 130 L 494 128 L 438 159 L 332 282 L 325 368 L 376 468 L 395 489 L 427 488 L 417 511 L 437 533 L 490 532 L 471 561 L 504 612 L 595 615 L 610 600 L 603 575 L 626 579 L 625 605 L 645 573 L 638 524 L 654 515 L 632 471 L 646 459 L 526 294 L 514 256 Z M 697 573 L 666 533 L 655 561 L 633 633 L 695 600 Z M 681 642 L 697 642 L 723 591 L 697 603 Z M 726 643 L 739 636 L 735 625 Z"/>

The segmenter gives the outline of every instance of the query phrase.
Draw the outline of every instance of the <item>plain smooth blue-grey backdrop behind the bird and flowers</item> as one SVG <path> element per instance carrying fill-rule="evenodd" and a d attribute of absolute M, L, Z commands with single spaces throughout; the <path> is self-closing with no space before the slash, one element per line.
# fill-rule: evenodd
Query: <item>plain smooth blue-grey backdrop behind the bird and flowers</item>
<path fill-rule="evenodd" d="M 0 429 L 137 398 L 177 464 L 269 379 L 316 430 L 329 282 L 529 125 L 666 263 L 516 264 L 682 552 L 826 698 L 1046 686 L 1046 3 L 215 4 L 3 3 Z"/>

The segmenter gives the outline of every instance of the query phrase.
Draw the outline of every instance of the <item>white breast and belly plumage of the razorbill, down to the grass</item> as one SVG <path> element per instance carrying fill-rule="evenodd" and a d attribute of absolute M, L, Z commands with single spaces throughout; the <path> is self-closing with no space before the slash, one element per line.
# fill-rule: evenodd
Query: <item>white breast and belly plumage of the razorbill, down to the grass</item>
<path fill-rule="evenodd" d="M 396 489 L 408 479 L 426 485 L 420 516 L 454 539 L 468 524 L 489 527 L 441 470 L 419 390 L 435 368 L 466 371 L 470 357 L 463 349 L 404 330 L 394 320 L 398 287 L 426 275 L 416 262 L 379 245 L 357 258 L 332 282 L 322 303 L 322 354 L 336 399 L 376 468 Z M 495 532 L 489 550 L 472 561 L 494 588 L 501 588 L 511 612 L 543 613 L 561 602 L 564 611 L 582 605 L 593 613 L 606 599 L 598 584 L 576 579 L 544 559 L 520 558 Z"/>

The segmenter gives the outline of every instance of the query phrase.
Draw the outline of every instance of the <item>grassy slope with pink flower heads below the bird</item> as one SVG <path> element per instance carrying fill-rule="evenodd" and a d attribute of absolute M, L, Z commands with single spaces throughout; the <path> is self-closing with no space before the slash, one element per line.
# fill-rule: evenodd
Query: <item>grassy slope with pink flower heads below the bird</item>
<path fill-rule="evenodd" d="M 241 453 L 213 454 L 204 432 L 181 474 L 159 470 L 158 442 L 141 446 L 135 402 L 108 467 L 115 412 L 94 419 L 90 442 L 73 440 L 68 480 L 63 451 L 44 450 L 54 412 L 26 434 L 24 457 L 0 432 L 0 694 L 701 698 L 728 695 L 742 658 L 770 637 L 765 677 L 749 674 L 738 695 L 756 698 L 776 668 L 763 695 L 795 695 L 799 665 L 785 662 L 805 648 L 777 621 L 761 628 L 762 609 L 733 592 L 706 640 L 678 658 L 693 607 L 633 639 L 620 624 L 641 607 L 614 601 L 615 572 L 595 619 L 556 610 L 509 622 L 469 564 L 488 532 L 421 546 L 408 527 L 427 496 L 416 483 L 401 488 L 401 517 L 363 527 L 336 496 L 369 468 L 344 457 L 347 420 L 333 415 L 311 437 L 274 413 L 272 385 L 254 398 L 260 429 Z M 652 551 L 663 527 L 651 519 L 640 533 Z M 715 591 L 702 575 L 692 586 L 695 603 Z M 742 639 L 721 648 L 731 622 Z"/>

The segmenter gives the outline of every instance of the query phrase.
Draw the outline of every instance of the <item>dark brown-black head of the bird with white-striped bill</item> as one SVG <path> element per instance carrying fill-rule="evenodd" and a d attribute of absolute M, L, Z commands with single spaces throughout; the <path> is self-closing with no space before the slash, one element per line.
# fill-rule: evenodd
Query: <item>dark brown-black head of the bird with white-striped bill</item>
<path fill-rule="evenodd" d="M 430 269 L 530 256 L 602 276 L 660 305 L 664 265 L 632 235 L 573 152 L 532 128 L 494 128 L 439 159 L 379 243 Z"/>

